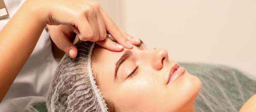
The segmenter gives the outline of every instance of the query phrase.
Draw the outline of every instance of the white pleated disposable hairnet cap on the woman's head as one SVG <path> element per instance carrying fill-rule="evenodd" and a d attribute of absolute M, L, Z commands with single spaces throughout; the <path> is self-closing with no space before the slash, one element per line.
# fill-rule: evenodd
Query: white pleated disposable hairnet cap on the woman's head
<path fill-rule="evenodd" d="M 46 94 L 46 106 L 52 112 L 108 112 L 92 76 L 93 42 L 76 44 L 76 59 L 67 54 L 61 59 Z"/>

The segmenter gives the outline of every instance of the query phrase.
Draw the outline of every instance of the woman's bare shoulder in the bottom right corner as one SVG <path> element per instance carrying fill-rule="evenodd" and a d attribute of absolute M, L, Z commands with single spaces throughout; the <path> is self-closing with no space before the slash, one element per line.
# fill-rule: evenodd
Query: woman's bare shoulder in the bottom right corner
<path fill-rule="evenodd" d="M 256 110 L 256 94 L 247 100 L 239 112 L 255 112 Z"/>

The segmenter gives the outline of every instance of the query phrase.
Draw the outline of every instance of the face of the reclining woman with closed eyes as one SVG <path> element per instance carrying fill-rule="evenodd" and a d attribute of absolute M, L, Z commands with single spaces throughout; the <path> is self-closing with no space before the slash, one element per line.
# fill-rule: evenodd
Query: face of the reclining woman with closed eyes
<path fill-rule="evenodd" d="M 120 61 L 121 57 L 127 59 Z M 95 45 L 92 53 L 99 89 L 121 112 L 174 112 L 193 107 L 201 81 L 185 70 L 167 84 L 174 64 L 165 49 L 151 50 L 145 44 L 121 52 Z"/>

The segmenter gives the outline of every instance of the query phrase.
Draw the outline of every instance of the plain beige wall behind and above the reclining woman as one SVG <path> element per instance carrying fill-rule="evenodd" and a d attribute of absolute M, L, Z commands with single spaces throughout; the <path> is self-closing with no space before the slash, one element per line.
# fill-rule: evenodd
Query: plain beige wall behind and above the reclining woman
<path fill-rule="evenodd" d="M 256 76 L 256 0 L 98 0 L 116 24 L 178 62 Z"/>

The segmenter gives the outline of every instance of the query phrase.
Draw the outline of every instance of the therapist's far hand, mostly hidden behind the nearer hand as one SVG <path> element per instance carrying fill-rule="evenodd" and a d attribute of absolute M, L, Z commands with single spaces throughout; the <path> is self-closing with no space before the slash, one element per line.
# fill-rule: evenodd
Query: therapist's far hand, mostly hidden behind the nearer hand
<path fill-rule="evenodd" d="M 66 52 L 71 58 L 76 58 L 77 56 L 77 48 L 72 43 L 76 37 L 76 33 L 73 31 L 73 28 L 70 25 L 47 25 L 47 28 L 50 32 L 51 39 L 56 46 Z M 134 45 L 140 43 L 139 39 L 134 39 L 132 36 L 124 32 L 120 29 L 122 34 Z M 99 44 L 100 46 L 111 50 L 111 51 L 122 51 L 123 46 L 116 46 L 117 43 L 112 42 L 109 38 L 105 38 L 102 41 L 96 41 L 95 43 Z M 119 48 L 118 48 L 119 47 Z M 71 50 L 72 49 L 72 50 Z"/>

